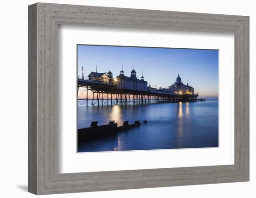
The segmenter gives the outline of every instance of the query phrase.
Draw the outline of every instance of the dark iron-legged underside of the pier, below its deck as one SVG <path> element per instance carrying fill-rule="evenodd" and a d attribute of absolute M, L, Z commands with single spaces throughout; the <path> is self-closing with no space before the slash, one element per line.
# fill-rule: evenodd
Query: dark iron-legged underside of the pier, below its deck
<path fill-rule="evenodd" d="M 195 94 L 175 94 L 162 92 L 160 90 L 140 91 L 134 89 L 117 89 L 115 84 L 96 81 L 77 80 L 78 90 L 83 88 L 82 95 L 86 104 L 150 104 L 165 102 L 197 102 L 204 99 L 197 99 Z M 88 91 L 91 91 L 88 96 Z"/>

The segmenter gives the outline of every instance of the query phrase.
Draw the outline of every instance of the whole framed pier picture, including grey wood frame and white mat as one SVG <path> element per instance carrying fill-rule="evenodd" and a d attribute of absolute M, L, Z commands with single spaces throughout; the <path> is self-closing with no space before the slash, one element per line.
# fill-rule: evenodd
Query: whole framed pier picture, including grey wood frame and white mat
<path fill-rule="evenodd" d="M 28 191 L 249 181 L 249 17 L 28 7 Z"/>

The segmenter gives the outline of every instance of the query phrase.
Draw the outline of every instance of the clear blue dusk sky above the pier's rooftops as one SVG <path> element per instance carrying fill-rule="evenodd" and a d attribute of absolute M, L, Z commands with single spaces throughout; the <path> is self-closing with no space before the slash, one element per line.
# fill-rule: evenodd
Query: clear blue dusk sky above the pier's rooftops
<path fill-rule="evenodd" d="M 167 88 L 178 74 L 182 82 L 195 88 L 200 97 L 218 99 L 218 50 L 149 48 L 127 46 L 77 45 L 77 69 L 85 76 L 91 71 L 119 75 L 121 65 L 125 76 L 131 70 L 152 87 Z"/>

